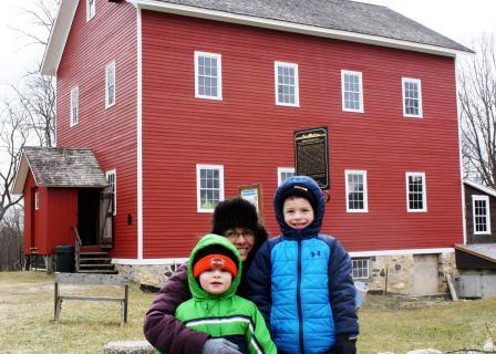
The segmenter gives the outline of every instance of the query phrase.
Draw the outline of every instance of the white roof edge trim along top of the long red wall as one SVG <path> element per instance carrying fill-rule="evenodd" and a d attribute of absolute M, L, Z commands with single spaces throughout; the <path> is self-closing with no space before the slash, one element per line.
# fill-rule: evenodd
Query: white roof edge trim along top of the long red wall
<path fill-rule="evenodd" d="M 237 14 L 237 13 L 204 9 L 204 8 L 192 7 L 192 6 L 157 2 L 155 0 L 127 0 L 127 2 L 131 2 L 135 7 L 144 9 L 144 10 L 168 12 L 168 13 L 196 17 L 196 18 L 215 20 L 215 21 L 223 21 L 223 22 L 230 22 L 230 23 L 237 23 L 237 24 L 245 24 L 245 25 L 259 27 L 259 28 L 265 28 L 265 29 L 286 31 L 286 32 L 331 38 L 331 39 L 338 39 L 338 40 L 345 40 L 345 41 L 352 41 L 352 42 L 359 42 L 359 43 L 372 44 L 372 45 L 379 45 L 379 46 L 395 48 L 395 49 L 402 49 L 402 50 L 409 50 L 409 51 L 415 51 L 415 52 L 436 54 L 436 55 L 442 55 L 442 56 L 456 58 L 457 54 L 473 53 L 472 51 L 465 52 L 465 51 L 444 48 L 444 46 L 436 46 L 436 45 L 431 45 L 431 44 L 409 42 L 409 41 L 404 41 L 404 40 L 389 39 L 389 38 L 379 37 L 379 35 L 362 34 L 362 33 L 358 33 L 358 32 L 348 32 L 348 31 L 341 31 L 341 30 L 331 30 L 331 29 L 324 29 L 324 28 L 316 27 L 316 25 L 299 24 L 299 23 L 280 21 L 280 20 L 264 19 L 264 18 L 259 18 L 259 17 L 254 17 L 254 15 Z"/>

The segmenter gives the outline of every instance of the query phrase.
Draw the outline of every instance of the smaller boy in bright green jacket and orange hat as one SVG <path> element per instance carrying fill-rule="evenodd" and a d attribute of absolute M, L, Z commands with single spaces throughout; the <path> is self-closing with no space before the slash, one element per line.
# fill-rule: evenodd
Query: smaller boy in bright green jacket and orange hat
<path fill-rule="evenodd" d="M 232 243 L 225 237 L 207 235 L 193 249 L 189 262 L 193 299 L 183 302 L 175 315 L 187 327 L 216 339 L 209 341 L 202 354 L 218 353 L 216 345 L 221 347 L 223 343 L 234 354 L 276 354 L 276 345 L 255 303 L 236 295 L 242 262 Z"/>

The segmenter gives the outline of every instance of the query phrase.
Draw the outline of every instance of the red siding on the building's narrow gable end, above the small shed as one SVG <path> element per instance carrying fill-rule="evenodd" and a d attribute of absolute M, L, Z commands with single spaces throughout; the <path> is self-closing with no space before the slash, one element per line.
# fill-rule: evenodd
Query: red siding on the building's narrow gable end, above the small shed
<path fill-rule="evenodd" d="M 117 258 L 137 257 L 136 222 L 136 9 L 127 2 L 96 1 L 86 22 L 80 1 L 58 71 L 58 145 L 90 147 L 102 169 L 116 169 Z M 105 66 L 115 60 L 116 103 L 105 110 Z M 80 123 L 70 127 L 70 91 L 78 85 Z"/>

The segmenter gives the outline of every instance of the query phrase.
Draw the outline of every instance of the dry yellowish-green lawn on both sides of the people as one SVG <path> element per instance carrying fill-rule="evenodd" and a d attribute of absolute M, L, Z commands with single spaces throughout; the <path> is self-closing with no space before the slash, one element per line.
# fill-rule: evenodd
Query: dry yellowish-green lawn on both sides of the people
<path fill-rule="evenodd" d="M 81 292 L 62 285 L 63 293 L 64 289 Z M 108 288 L 97 285 L 91 291 L 97 294 L 102 289 L 108 294 Z M 110 341 L 144 340 L 143 319 L 154 298 L 132 285 L 124 327 L 118 303 L 94 301 L 63 302 L 61 323 L 55 325 L 53 275 L 0 272 L 0 353 L 102 353 Z M 496 334 L 496 298 L 452 303 L 369 296 L 360 310 L 359 353 L 482 348 L 488 336 L 486 323 Z"/>

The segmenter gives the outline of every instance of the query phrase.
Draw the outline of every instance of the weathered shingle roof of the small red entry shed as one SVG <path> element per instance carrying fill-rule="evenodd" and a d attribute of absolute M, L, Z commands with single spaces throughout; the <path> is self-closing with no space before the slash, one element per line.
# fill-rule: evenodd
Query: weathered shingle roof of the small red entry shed
<path fill-rule="evenodd" d="M 23 192 L 29 170 L 37 186 L 101 188 L 108 185 L 89 148 L 24 147 L 13 194 Z"/>

